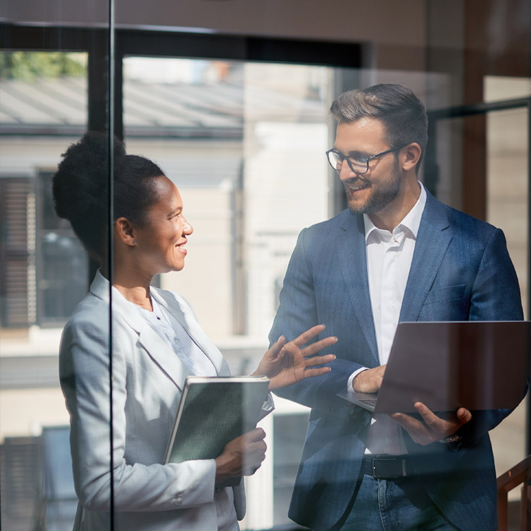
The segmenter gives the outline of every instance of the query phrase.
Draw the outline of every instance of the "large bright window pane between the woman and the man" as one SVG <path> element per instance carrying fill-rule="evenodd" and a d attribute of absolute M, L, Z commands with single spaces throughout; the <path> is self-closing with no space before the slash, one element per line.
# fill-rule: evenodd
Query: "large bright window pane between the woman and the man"
<path fill-rule="evenodd" d="M 297 64 L 124 61 L 127 152 L 154 159 L 176 183 L 194 228 L 184 270 L 161 275 L 161 287 L 190 300 L 233 374 L 252 372 L 267 348 L 297 234 L 330 215 L 336 176 L 324 152 L 335 74 Z M 275 464 L 265 459 L 246 478 L 242 529 L 289 522 L 307 411 L 275 404 L 261 423 Z"/>

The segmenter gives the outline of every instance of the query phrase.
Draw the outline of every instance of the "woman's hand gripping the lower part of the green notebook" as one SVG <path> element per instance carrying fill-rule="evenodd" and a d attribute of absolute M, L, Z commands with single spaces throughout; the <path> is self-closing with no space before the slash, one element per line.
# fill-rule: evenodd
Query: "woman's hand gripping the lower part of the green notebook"
<path fill-rule="evenodd" d="M 224 447 L 223 452 L 215 459 L 216 484 L 226 479 L 254 474 L 265 459 L 267 446 L 263 441 L 265 431 L 254 428 L 240 435 Z"/>

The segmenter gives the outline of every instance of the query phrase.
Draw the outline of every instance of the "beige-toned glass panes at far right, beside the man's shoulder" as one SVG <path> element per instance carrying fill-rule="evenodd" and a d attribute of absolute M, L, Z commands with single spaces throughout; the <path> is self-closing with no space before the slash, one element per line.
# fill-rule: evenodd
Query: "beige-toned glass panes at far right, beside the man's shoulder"
<path fill-rule="evenodd" d="M 531 96 L 531 79 L 491 76 L 484 83 L 486 101 Z M 515 265 L 524 307 L 527 300 L 527 217 L 529 164 L 527 108 L 489 113 L 486 118 L 487 221 L 503 229 Z M 503 474 L 525 457 L 525 400 L 491 432 L 496 472 Z M 520 498 L 519 489 L 509 493 Z"/>

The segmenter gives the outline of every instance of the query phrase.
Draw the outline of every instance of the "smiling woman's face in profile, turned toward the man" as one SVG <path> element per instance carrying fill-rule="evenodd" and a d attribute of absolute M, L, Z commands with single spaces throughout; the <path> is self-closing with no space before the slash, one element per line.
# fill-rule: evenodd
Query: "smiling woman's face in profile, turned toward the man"
<path fill-rule="evenodd" d="M 144 227 L 135 228 L 137 263 L 149 275 L 180 271 L 186 256 L 186 236 L 193 232 L 183 216 L 176 185 L 165 176 L 154 181 L 159 200 L 148 210 Z"/>

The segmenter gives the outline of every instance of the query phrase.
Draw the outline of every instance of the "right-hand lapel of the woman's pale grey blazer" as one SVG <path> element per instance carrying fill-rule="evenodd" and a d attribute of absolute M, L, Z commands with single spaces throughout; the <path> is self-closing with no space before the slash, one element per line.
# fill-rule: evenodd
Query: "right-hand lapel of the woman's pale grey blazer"
<path fill-rule="evenodd" d="M 181 304 L 172 292 L 152 289 L 152 295 L 171 312 L 181 326 L 183 326 L 183 329 L 188 333 L 191 340 L 207 355 L 207 358 L 214 365 L 217 375 L 230 375 L 229 365 L 225 361 L 225 358 L 223 358 L 222 353 L 219 352 L 215 344 L 210 341 L 210 338 L 208 338 L 205 331 L 200 327 L 190 307 Z"/>

